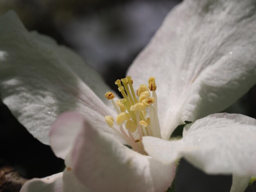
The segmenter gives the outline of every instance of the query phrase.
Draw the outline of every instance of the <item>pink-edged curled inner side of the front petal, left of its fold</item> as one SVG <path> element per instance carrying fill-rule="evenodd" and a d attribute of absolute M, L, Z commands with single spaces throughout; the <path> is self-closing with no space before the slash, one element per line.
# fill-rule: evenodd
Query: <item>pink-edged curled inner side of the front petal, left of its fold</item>
<path fill-rule="evenodd" d="M 67 153 L 76 142 L 77 135 L 85 126 L 85 121 L 93 123 L 94 127 L 97 129 L 109 129 L 111 131 L 106 122 L 103 122 L 103 125 L 101 125 L 101 122 L 93 122 L 90 117 L 88 118 L 79 112 L 66 112 L 61 114 L 58 116 L 49 132 L 50 145 L 57 157 L 65 159 Z M 108 131 L 104 133 L 107 134 Z M 114 137 L 112 134 L 110 136 Z M 121 138 L 119 139 L 121 140 Z"/>

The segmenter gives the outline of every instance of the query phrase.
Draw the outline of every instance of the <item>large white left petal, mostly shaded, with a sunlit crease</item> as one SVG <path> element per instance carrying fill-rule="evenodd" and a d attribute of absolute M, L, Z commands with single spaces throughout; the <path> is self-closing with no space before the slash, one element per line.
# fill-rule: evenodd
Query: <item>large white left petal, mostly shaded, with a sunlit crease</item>
<path fill-rule="evenodd" d="M 0 18 L 0 93 L 41 142 L 48 144 L 49 127 L 65 111 L 82 112 L 96 125 L 105 123 L 111 112 L 92 90 L 103 99 L 108 87 L 78 55 L 28 32 L 13 12 Z"/>

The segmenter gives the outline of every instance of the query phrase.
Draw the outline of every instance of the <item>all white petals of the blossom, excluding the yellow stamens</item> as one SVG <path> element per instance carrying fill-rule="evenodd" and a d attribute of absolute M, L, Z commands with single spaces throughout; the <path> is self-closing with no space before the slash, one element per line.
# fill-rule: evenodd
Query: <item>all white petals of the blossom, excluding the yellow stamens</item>
<path fill-rule="evenodd" d="M 109 88 L 83 60 L 17 16 L 0 19 L 0 92 L 29 132 L 65 159 L 64 173 L 27 182 L 22 190 L 164 191 L 184 156 L 209 174 L 234 174 L 231 190 L 256 174 L 256 122 L 221 111 L 256 82 L 255 1 L 185 0 L 128 71 L 134 87 L 157 81 L 161 137 L 143 137 L 150 156 L 134 152 L 104 120 L 113 115 Z M 205 118 L 199 119 L 201 117 Z M 197 120 L 197 121 L 196 121 Z M 184 137 L 168 140 L 177 125 Z M 118 129 L 118 127 L 117 127 Z M 239 133 L 239 134 L 238 134 Z M 159 150 L 160 149 L 160 150 Z M 152 158 L 152 157 L 153 158 Z"/>

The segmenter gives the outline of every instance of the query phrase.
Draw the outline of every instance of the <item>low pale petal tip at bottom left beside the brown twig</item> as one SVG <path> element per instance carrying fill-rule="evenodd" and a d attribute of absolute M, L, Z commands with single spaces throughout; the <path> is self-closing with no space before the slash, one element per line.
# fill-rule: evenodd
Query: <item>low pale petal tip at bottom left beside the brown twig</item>
<path fill-rule="evenodd" d="M 63 192 L 62 175 L 63 172 L 42 179 L 31 179 L 22 186 L 20 192 Z"/>

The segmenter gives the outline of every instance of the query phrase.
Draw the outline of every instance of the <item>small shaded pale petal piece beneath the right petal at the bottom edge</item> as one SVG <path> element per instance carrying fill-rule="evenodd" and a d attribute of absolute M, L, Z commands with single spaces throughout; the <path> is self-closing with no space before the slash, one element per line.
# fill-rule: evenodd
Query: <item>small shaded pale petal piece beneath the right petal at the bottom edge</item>
<path fill-rule="evenodd" d="M 241 177 L 241 176 L 233 175 L 232 186 L 231 186 L 230 192 L 245 191 L 250 179 L 251 179 L 251 177 L 248 177 L 248 176 Z"/>

